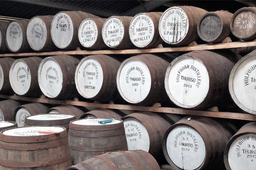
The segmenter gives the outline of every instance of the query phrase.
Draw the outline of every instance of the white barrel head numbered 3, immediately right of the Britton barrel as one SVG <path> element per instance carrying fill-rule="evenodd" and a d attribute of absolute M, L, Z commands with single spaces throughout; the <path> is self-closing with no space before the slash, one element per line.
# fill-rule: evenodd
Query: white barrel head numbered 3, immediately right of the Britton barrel
<path fill-rule="evenodd" d="M 151 88 L 151 75 L 148 66 L 137 58 L 128 58 L 120 65 L 117 77 L 117 88 L 125 101 L 142 102 Z"/>

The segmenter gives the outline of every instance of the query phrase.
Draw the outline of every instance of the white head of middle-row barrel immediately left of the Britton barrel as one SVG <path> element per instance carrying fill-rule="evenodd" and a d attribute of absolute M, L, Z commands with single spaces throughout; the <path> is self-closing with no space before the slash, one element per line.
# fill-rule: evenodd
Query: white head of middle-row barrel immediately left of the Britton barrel
<path fill-rule="evenodd" d="M 63 74 L 58 62 L 52 57 L 43 59 L 38 68 L 38 84 L 43 94 L 49 98 L 57 97 L 62 83 Z"/>

